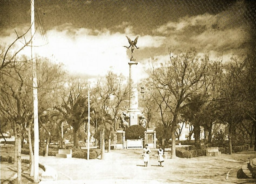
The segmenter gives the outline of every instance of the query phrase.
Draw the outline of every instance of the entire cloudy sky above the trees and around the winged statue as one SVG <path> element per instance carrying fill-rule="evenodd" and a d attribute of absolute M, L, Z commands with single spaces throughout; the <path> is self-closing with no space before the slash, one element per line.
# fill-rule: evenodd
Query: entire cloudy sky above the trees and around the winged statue
<path fill-rule="evenodd" d="M 129 75 L 126 35 L 132 40 L 139 36 L 139 49 L 134 50 L 139 78 L 147 76 L 152 57 L 169 60 L 169 47 L 182 51 L 194 47 L 225 62 L 255 46 L 253 1 L 35 0 L 35 8 L 36 54 L 86 78 L 104 76 L 108 70 Z M 29 0 L 0 0 L 2 47 L 16 39 L 15 31 L 20 35 L 29 27 Z M 21 39 L 11 50 L 24 42 Z M 21 54 L 30 56 L 30 50 L 27 47 Z"/>

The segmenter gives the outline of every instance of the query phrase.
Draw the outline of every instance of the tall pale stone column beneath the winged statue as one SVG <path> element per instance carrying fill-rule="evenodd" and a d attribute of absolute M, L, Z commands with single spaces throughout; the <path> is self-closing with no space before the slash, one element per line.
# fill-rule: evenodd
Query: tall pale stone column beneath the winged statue
<path fill-rule="evenodd" d="M 138 125 L 138 115 L 140 110 L 138 109 L 138 88 L 137 88 L 137 62 L 133 59 L 129 62 L 130 66 L 130 79 L 129 79 L 129 109 L 130 126 Z"/>

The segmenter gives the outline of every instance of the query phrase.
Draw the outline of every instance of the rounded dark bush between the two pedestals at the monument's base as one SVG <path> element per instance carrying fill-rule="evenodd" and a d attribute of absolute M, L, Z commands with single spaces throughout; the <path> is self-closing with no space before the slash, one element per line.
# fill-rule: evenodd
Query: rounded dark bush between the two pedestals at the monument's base
<path fill-rule="evenodd" d="M 144 139 L 144 132 L 146 128 L 140 125 L 132 125 L 131 127 L 126 128 L 125 139 Z"/>

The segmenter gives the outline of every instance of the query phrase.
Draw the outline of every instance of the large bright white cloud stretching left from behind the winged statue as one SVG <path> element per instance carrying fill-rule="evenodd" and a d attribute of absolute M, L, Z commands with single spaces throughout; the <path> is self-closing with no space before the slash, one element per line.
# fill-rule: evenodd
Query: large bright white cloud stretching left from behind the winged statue
<path fill-rule="evenodd" d="M 28 27 L 27 27 L 28 28 Z M 25 29 L 22 27 L 22 29 Z M 8 30 L 8 36 L 1 36 L 1 41 L 7 45 L 15 39 L 15 33 Z M 131 38 L 136 35 L 128 34 Z M 29 39 L 30 35 L 27 36 Z M 128 45 L 125 34 L 111 33 L 109 30 L 92 30 L 75 28 L 66 23 L 47 31 L 49 43 L 46 44 L 39 31 L 35 35 L 35 52 L 39 56 L 50 57 L 54 62 L 64 63 L 70 73 L 86 74 L 88 76 L 104 76 L 108 70 L 129 75 L 130 51 L 124 45 Z M 138 43 L 142 49 L 159 47 L 164 37 L 141 36 Z M 46 44 L 46 45 L 45 45 Z M 20 47 L 18 42 L 13 49 Z M 20 54 L 30 56 L 30 48 L 27 47 Z M 51 57 L 52 56 L 52 57 Z"/>

